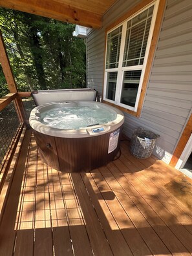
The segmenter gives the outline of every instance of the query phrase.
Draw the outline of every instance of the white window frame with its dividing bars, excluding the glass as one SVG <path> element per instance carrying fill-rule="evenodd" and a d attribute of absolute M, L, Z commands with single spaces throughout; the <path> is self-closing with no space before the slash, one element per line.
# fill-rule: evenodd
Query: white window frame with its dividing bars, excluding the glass
<path fill-rule="evenodd" d="M 142 91 L 142 84 L 144 81 L 144 74 L 145 74 L 145 69 L 147 65 L 147 59 L 149 56 L 149 50 L 151 46 L 151 40 L 153 37 L 153 30 L 155 28 L 155 20 L 157 16 L 157 11 L 158 11 L 158 5 L 159 5 L 160 0 L 156 0 L 151 2 L 149 5 L 145 6 L 142 8 L 140 11 L 136 12 L 133 16 L 130 16 L 128 19 L 125 19 L 122 23 L 116 25 L 115 27 L 111 28 L 109 31 L 107 31 L 107 36 L 109 33 L 111 33 L 113 30 L 116 28 L 122 26 L 122 40 L 121 40 L 121 45 L 120 45 L 120 58 L 119 58 L 119 63 L 118 63 L 118 68 L 113 68 L 113 69 L 106 69 L 106 61 L 107 61 L 107 36 L 106 36 L 106 43 L 105 43 L 105 76 L 104 76 L 104 87 L 103 87 L 103 100 L 108 101 L 109 103 L 113 103 L 115 105 L 118 105 L 120 107 L 123 107 L 124 109 L 129 109 L 131 111 L 136 112 L 138 109 L 138 103 L 140 100 L 140 94 Z M 127 22 L 133 19 L 134 17 L 138 16 L 138 14 L 144 12 L 148 8 L 154 5 L 154 10 L 153 10 L 153 16 L 151 19 L 151 27 L 149 30 L 149 36 L 147 39 L 147 46 L 145 50 L 145 57 L 144 57 L 144 63 L 142 65 L 136 65 L 136 66 L 130 66 L 130 67 L 123 67 L 123 53 L 124 53 L 124 48 L 125 48 L 125 38 L 126 38 L 126 30 L 127 30 Z M 138 92 L 136 96 L 136 102 L 134 107 L 131 107 L 129 105 L 125 105 L 120 102 L 121 100 L 121 94 L 122 94 L 122 86 L 123 86 L 123 74 L 125 71 L 129 70 L 142 70 L 142 74 L 140 77 L 140 83 L 138 86 Z M 107 74 L 108 72 L 118 72 L 117 76 L 117 82 L 116 82 L 116 94 L 115 94 L 115 99 L 109 100 L 106 98 L 106 91 L 107 91 Z"/>

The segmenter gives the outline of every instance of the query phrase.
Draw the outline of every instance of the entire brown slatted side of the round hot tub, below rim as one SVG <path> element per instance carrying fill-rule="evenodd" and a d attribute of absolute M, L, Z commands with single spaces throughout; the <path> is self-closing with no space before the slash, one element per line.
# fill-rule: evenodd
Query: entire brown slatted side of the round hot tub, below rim
<path fill-rule="evenodd" d="M 118 129 L 121 133 L 122 127 Z M 118 146 L 108 153 L 111 132 L 87 138 L 58 138 L 37 131 L 34 134 L 43 161 L 54 169 L 70 173 L 91 171 L 114 160 L 120 142 L 119 136 Z"/>

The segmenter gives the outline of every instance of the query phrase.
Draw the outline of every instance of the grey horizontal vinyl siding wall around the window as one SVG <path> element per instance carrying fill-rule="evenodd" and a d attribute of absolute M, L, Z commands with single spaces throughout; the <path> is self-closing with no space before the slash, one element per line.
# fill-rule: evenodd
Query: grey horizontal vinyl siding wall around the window
<path fill-rule="evenodd" d="M 87 86 L 102 93 L 105 29 L 139 1 L 120 0 L 88 30 Z M 154 154 L 169 163 L 192 109 L 192 1 L 168 0 L 140 118 L 125 113 L 123 133 L 139 126 L 160 134 Z"/>

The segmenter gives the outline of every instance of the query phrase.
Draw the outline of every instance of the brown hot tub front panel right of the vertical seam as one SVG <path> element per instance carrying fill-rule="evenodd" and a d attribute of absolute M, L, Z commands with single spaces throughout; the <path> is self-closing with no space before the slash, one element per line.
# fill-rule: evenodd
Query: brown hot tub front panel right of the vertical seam
<path fill-rule="evenodd" d="M 55 138 L 60 171 L 91 171 L 112 161 L 118 147 L 108 154 L 109 134 L 89 138 Z"/>

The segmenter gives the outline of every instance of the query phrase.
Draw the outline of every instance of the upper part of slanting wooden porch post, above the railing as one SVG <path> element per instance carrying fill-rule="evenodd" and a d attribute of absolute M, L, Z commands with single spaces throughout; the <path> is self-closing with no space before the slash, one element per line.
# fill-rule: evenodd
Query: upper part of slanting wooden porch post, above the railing
<path fill-rule="evenodd" d="M 0 62 L 5 74 L 5 79 L 8 84 L 8 89 L 10 92 L 17 92 L 16 81 L 12 73 L 12 68 L 10 67 L 10 62 L 6 53 L 5 43 L 3 41 L 3 36 L 0 31 Z"/>

